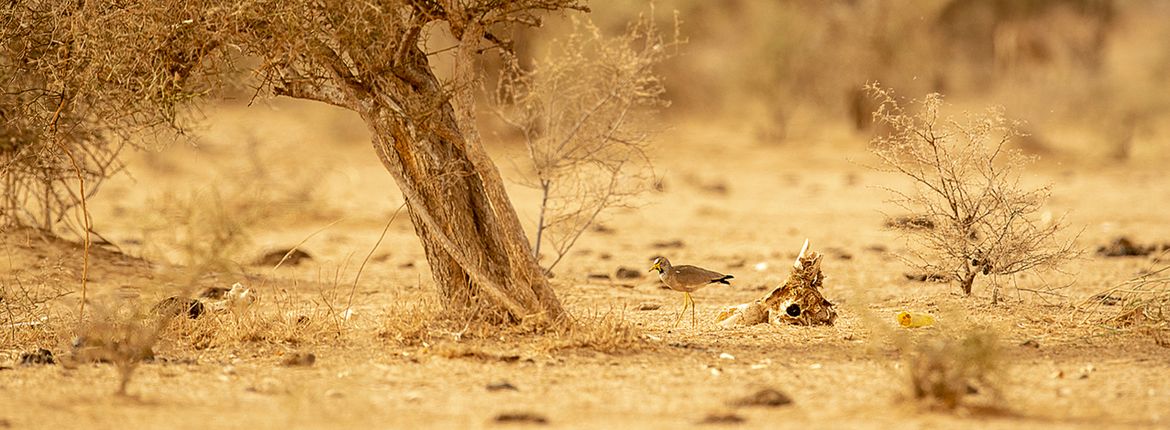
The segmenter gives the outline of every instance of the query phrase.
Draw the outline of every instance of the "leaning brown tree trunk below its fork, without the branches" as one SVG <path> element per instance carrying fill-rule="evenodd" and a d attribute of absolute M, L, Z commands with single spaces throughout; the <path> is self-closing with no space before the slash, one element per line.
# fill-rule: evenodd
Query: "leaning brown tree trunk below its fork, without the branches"
<path fill-rule="evenodd" d="M 417 58 L 404 67 L 419 79 L 392 82 L 357 105 L 407 200 L 446 310 L 493 321 L 563 319 L 477 131 L 461 127 L 425 55 Z"/>

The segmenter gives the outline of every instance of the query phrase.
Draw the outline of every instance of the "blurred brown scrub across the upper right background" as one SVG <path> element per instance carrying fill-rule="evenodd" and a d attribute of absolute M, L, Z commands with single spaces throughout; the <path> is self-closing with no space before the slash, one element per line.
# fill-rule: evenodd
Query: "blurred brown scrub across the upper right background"
<path fill-rule="evenodd" d="M 597 2 L 620 33 L 641 2 Z M 728 124 L 762 143 L 858 140 L 873 131 L 861 92 L 945 95 L 1002 105 L 1027 123 L 1023 150 L 1055 160 L 1168 154 L 1170 2 L 1156 0 L 661 0 L 687 44 L 661 65 L 675 122 Z M 515 35 L 538 57 L 571 18 Z M 863 141 L 865 139 L 861 139 Z"/>

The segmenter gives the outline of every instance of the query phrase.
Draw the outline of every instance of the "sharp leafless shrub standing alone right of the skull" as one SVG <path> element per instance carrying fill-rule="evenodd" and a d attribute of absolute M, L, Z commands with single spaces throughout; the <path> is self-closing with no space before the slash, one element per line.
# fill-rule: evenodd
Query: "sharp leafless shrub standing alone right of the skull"
<path fill-rule="evenodd" d="M 934 226 L 894 226 L 911 238 L 908 262 L 923 272 L 950 273 L 970 294 L 978 275 L 1055 268 L 1079 254 L 1073 241 L 1059 237 L 1061 220 L 1039 214 L 1048 187 L 1020 185 L 1019 171 L 1030 159 L 1005 147 L 1018 136 L 1017 123 L 1000 110 L 944 117 L 942 96 L 931 93 L 911 102 L 920 112 L 908 113 L 893 91 L 878 84 L 867 90 L 880 102 L 874 118 L 890 129 L 872 141 L 882 161 L 878 168 L 914 182 L 892 189 L 894 203 Z"/>

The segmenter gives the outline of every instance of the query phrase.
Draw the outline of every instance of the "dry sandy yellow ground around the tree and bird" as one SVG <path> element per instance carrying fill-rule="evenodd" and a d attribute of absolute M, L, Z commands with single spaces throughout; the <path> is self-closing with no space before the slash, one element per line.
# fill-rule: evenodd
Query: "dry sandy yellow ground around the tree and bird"
<path fill-rule="evenodd" d="M 1095 313 L 1079 306 L 1159 265 L 1092 252 L 1120 235 L 1170 241 L 1170 178 L 1155 162 L 1032 168 L 1027 181 L 1054 185 L 1047 210 L 1067 213 L 1073 234 L 1083 229 L 1078 243 L 1090 251 L 1068 273 L 1003 279 L 1002 300 L 992 304 L 982 279 L 968 298 L 951 285 L 903 277 L 906 266 L 892 255 L 903 243 L 882 228 L 883 213 L 895 209 L 881 189 L 902 183 L 865 167 L 863 138 L 765 144 L 736 127 L 680 122 L 658 139 L 662 190 L 606 217 L 605 229 L 587 234 L 556 272 L 555 287 L 570 311 L 601 328 L 585 338 L 484 338 L 432 325 L 433 284 L 405 216 L 390 226 L 351 293 L 401 196 L 355 118 L 315 105 L 274 108 L 213 110 L 198 146 L 135 155 L 133 178 L 112 181 L 91 202 L 97 231 L 124 252 L 94 251 L 88 294 L 95 303 L 149 307 L 197 287 L 241 282 L 259 293 L 261 317 L 242 324 L 211 315 L 202 326 L 166 332 L 157 359 L 133 374 L 129 396 L 113 395 L 118 373 L 109 365 L 15 365 L 20 352 L 36 346 L 58 356 L 68 352 L 83 258 L 74 243 L 8 231 L 0 258 L 5 282 L 66 294 L 42 306 L 48 318 L 41 325 L 5 328 L 0 365 L 12 367 L 0 370 L 0 428 L 515 425 L 498 422 L 502 414 L 530 414 L 557 428 L 676 428 L 727 415 L 751 428 L 1170 426 L 1170 349 L 1148 334 L 1100 324 L 1115 312 L 1109 306 Z M 518 147 L 494 151 L 505 176 L 521 174 Z M 512 192 L 522 221 L 531 223 L 536 193 Z M 205 237 L 206 226 L 223 220 L 247 220 L 239 226 L 246 241 L 212 251 L 243 264 L 192 271 L 197 255 L 209 251 L 177 244 Z M 782 282 L 805 238 L 826 255 L 825 294 L 838 304 L 837 325 L 714 324 L 722 306 Z M 298 243 L 312 261 L 278 269 L 247 264 Z M 698 325 L 684 320 L 670 330 L 680 294 L 651 273 L 598 276 L 621 266 L 645 273 L 656 255 L 734 273 L 734 285 L 696 293 Z M 356 311 L 344 320 L 339 310 L 350 297 Z M 902 310 L 931 312 L 937 324 L 900 328 L 894 314 Z M 607 335 L 621 338 L 605 334 L 614 320 L 628 322 L 629 337 L 640 340 L 606 348 Z M 1002 398 L 994 408 L 942 412 L 902 401 L 904 345 L 980 326 L 998 339 Z M 211 340 L 199 344 L 198 333 Z M 284 366 L 296 353 L 317 360 Z M 489 389 L 501 381 L 515 389 Z M 765 387 L 792 404 L 732 404 Z"/>

